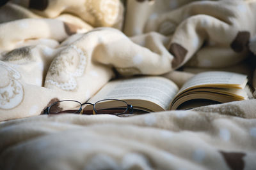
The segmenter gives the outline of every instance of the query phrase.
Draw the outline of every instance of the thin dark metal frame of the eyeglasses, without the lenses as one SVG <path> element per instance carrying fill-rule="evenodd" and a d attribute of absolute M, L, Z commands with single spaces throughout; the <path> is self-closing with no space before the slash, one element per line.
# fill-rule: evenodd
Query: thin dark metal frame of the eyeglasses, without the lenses
<path fill-rule="evenodd" d="M 122 101 L 122 102 L 124 102 L 124 103 L 127 104 L 126 110 L 125 110 L 124 112 L 122 112 L 122 113 L 113 113 L 113 114 L 111 114 L 111 115 L 124 115 L 125 113 L 127 113 L 128 110 L 131 110 L 131 111 L 129 111 L 129 113 L 132 114 L 132 113 L 133 113 L 133 110 L 134 110 L 134 108 L 133 108 L 133 106 L 132 106 L 131 104 L 128 104 L 126 101 L 119 100 L 119 99 L 102 99 L 102 100 L 100 100 L 100 101 L 95 102 L 94 104 L 93 104 L 93 103 L 89 103 L 89 102 L 81 103 L 81 102 L 75 101 L 75 100 L 63 100 L 63 101 L 71 101 L 71 102 L 79 103 L 79 104 L 80 104 L 80 108 L 79 108 L 79 110 L 77 110 L 77 111 L 74 112 L 74 113 L 79 113 L 80 115 L 83 115 L 83 110 L 84 110 L 84 109 L 83 109 L 82 107 L 83 107 L 84 104 L 90 104 L 90 105 L 92 105 L 92 106 L 93 106 L 93 110 L 92 110 L 92 111 L 93 111 L 93 115 L 97 115 L 97 110 L 96 110 L 96 108 L 95 108 L 95 104 L 97 104 L 97 103 L 99 103 L 99 102 L 101 102 L 101 101 Z M 50 106 L 47 106 L 47 108 L 45 108 L 45 110 L 44 110 L 44 114 L 45 114 L 45 115 L 51 115 L 51 113 L 50 113 L 51 107 L 54 106 L 56 103 L 61 103 L 61 102 L 63 102 L 63 101 L 56 101 L 56 102 L 52 103 Z M 65 111 L 65 110 L 63 110 L 63 111 Z M 58 113 L 56 113 L 56 114 L 58 114 Z M 110 113 L 109 113 L 109 114 L 110 114 Z M 86 114 L 84 114 L 84 115 L 86 115 Z M 99 114 L 99 115 L 100 115 L 100 114 Z"/>

